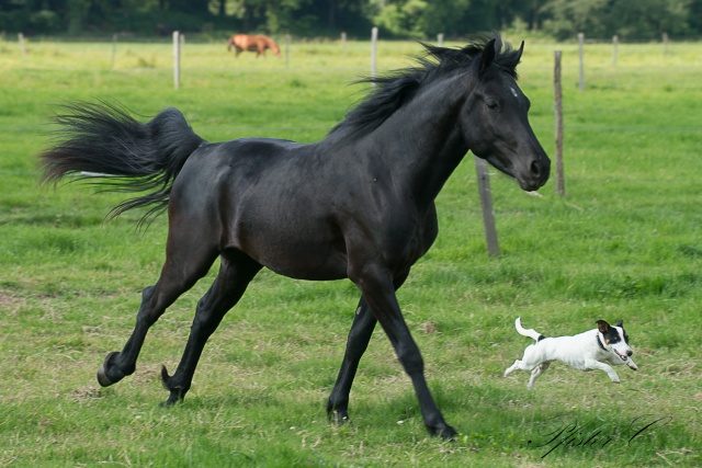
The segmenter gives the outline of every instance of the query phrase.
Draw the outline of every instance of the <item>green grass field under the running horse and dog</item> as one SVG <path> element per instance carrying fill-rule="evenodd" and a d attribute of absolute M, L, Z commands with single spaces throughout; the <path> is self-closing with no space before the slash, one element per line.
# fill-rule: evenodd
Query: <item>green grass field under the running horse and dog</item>
<path fill-rule="evenodd" d="M 510 38 L 517 43 L 519 37 Z M 152 328 L 137 372 L 101 389 L 94 374 L 122 349 L 140 290 L 163 261 L 166 217 L 105 224 L 122 198 L 78 184 L 39 187 L 35 155 L 47 117 L 70 100 L 114 99 L 151 116 L 181 109 L 217 141 L 314 141 L 366 90 L 369 43 L 291 45 L 290 58 L 235 60 L 224 44 L 185 44 L 173 89 L 169 44 L 0 42 L 0 466 L 702 465 L 702 44 L 529 42 L 519 71 L 531 122 L 553 156 L 553 52 L 564 54 L 567 196 L 529 196 L 491 178 L 502 254 L 486 254 L 473 158 L 438 199 L 441 232 L 399 292 L 448 422 L 427 435 L 409 379 L 380 329 L 361 362 L 351 423 L 326 398 L 358 301 L 350 282 L 262 272 L 211 339 L 182 404 L 159 369 L 174 369 L 204 278 Z M 412 43 L 382 42 L 381 71 Z M 528 391 L 501 377 L 526 328 L 574 334 L 623 319 L 639 370 L 554 365 Z M 552 438 L 554 438 L 552 441 Z"/>

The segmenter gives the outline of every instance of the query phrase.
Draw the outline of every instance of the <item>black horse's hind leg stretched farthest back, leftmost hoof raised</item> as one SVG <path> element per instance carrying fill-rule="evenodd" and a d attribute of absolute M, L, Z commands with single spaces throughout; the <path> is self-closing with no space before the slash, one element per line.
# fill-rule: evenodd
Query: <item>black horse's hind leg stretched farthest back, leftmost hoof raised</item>
<path fill-rule="evenodd" d="M 203 243 L 178 242 L 170 229 L 167 260 L 161 276 L 154 286 L 144 289 L 141 306 L 136 316 L 136 326 L 121 352 L 107 354 L 98 369 L 98 383 L 107 387 L 134 373 L 136 361 L 149 328 L 163 315 L 176 299 L 203 277 L 217 258 L 214 248 Z"/>

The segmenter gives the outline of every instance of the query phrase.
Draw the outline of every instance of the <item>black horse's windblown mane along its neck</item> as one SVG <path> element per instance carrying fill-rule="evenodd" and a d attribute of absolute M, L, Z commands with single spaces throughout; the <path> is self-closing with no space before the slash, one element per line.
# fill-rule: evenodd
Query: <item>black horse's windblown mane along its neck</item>
<path fill-rule="evenodd" d="M 420 43 L 424 47 L 424 53 L 416 58 L 417 66 L 355 81 L 373 83 L 375 89 L 329 132 L 329 136 L 344 138 L 374 130 L 407 104 L 421 85 L 456 72 L 467 71 L 492 38 L 496 39 L 497 52 L 494 64 L 517 79 L 517 65 L 521 54 L 509 43 L 503 44 L 497 34 L 475 37 L 471 44 L 462 48 L 438 47 Z"/>

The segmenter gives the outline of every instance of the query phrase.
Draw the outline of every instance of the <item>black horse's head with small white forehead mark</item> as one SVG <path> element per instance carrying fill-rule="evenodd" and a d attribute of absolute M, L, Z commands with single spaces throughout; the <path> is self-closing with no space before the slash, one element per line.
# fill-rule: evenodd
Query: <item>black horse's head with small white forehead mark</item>
<path fill-rule="evenodd" d="M 523 47 L 498 56 L 501 42 L 492 38 L 476 57 L 477 84 L 463 106 L 461 132 L 475 156 L 534 191 L 548 180 L 551 160 L 529 124 L 529 99 L 517 85 Z"/>

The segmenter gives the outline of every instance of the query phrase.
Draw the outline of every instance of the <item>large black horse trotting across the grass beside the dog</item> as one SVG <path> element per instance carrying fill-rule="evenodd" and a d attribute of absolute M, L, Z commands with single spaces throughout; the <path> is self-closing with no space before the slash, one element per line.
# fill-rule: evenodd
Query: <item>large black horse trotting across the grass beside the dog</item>
<path fill-rule="evenodd" d="M 43 180 L 67 173 L 111 174 L 122 191 L 148 191 L 112 215 L 168 207 L 166 262 L 144 289 L 136 327 L 98 370 L 102 386 L 134 373 L 147 331 L 202 278 L 219 273 L 199 301 L 176 373 L 162 368 L 170 396 L 190 389 L 205 342 L 263 267 L 303 279 L 351 279 L 361 300 L 327 412 L 348 419 L 349 392 L 376 322 L 417 392 L 429 432 L 451 438 L 427 386 L 423 361 L 395 292 L 438 233 L 434 198 L 468 150 L 534 191 L 550 160 L 528 121 L 517 85 L 519 49 L 498 36 L 464 48 L 424 46 L 416 67 L 369 78 L 374 90 L 321 141 L 270 138 L 211 144 L 167 109 L 146 124 L 122 107 L 67 105 L 57 115 L 60 142 L 41 155 Z"/>

